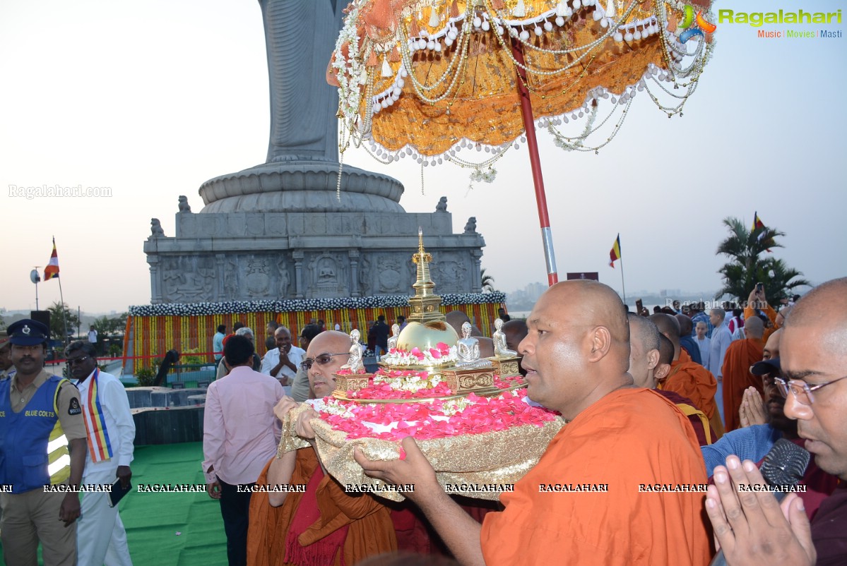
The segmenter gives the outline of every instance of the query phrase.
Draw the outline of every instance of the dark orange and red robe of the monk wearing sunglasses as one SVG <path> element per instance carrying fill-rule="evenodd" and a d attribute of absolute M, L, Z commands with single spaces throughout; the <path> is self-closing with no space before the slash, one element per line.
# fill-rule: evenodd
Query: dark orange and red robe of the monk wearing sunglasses
<path fill-rule="evenodd" d="M 258 485 L 268 483 L 271 462 L 259 475 Z M 290 483 L 307 484 L 307 493 L 289 493 L 277 508 L 270 506 L 267 493 L 252 494 L 247 533 L 247 563 L 251 566 L 352 566 L 368 556 L 396 551 L 389 509 L 368 494 L 344 492 L 332 476 L 324 475 L 313 448 L 297 450 Z M 313 518 L 311 524 L 303 525 L 296 541 L 289 540 L 292 525 Z M 300 545 L 301 560 L 285 562 L 286 543 Z M 321 558 L 327 552 L 334 558 Z"/>

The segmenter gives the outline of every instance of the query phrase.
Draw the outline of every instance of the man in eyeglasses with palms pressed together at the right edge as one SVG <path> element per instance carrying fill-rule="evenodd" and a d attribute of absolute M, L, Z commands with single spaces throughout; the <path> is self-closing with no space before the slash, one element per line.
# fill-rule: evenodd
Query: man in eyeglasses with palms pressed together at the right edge
<path fill-rule="evenodd" d="M 739 497 L 733 484 L 762 484 L 755 464 L 732 456 L 715 469 L 706 512 L 727 563 L 844 564 L 847 557 L 847 278 L 819 285 L 800 299 L 780 341 L 785 415 L 797 420 L 805 448 L 841 484 L 806 517 L 799 497 L 777 504 L 772 494 Z M 816 562 L 817 561 L 817 562 Z"/>

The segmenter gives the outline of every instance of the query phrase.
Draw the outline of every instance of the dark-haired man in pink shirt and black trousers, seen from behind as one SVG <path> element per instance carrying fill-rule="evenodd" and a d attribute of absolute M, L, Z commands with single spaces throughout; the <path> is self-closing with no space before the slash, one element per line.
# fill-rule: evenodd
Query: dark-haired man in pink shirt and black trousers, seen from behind
<path fill-rule="evenodd" d="M 220 500 L 230 566 L 247 562 L 250 496 L 264 464 L 280 441 L 274 405 L 280 382 L 252 370 L 253 343 L 233 336 L 224 344 L 230 373 L 212 382 L 203 417 L 203 473 L 209 497 Z"/>

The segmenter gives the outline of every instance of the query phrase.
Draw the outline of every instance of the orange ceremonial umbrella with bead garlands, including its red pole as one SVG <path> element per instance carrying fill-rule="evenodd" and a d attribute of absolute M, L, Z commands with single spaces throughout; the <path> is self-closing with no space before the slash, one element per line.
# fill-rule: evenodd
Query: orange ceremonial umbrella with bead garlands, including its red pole
<path fill-rule="evenodd" d="M 563 149 L 597 151 L 640 91 L 681 114 L 711 55 L 709 1 L 353 0 L 328 69 L 341 155 L 364 145 L 383 162 L 451 161 L 490 181 L 491 165 L 525 139 L 556 283 L 535 125 Z M 605 140 L 588 145 L 598 131 Z M 469 149 L 487 155 L 472 162 Z"/>

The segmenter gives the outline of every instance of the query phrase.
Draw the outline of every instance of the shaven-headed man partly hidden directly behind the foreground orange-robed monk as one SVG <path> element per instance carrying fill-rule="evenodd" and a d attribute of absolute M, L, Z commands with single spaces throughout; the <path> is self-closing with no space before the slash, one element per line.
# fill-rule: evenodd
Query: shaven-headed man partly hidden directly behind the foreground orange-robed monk
<path fill-rule="evenodd" d="M 677 409 L 686 415 L 697 435 L 700 446 L 711 444 L 713 434 L 709 419 L 700 409 L 697 409 L 691 399 L 684 398 L 679 393 L 656 389 L 656 379 L 664 379 L 671 370 L 673 360 L 673 344 L 659 333 L 656 325 L 644 316 L 633 312 L 627 314 L 629 320 L 629 375 L 633 376 L 636 387 L 655 389 L 662 397 L 667 398 Z M 664 346 L 664 347 L 663 347 Z M 665 357 L 662 363 L 662 356 Z"/>

